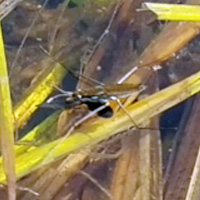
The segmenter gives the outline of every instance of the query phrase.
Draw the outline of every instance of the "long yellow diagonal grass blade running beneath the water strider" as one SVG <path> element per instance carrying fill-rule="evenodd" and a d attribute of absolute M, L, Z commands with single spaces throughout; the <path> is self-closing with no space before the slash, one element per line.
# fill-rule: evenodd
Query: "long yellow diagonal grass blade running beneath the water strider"
<path fill-rule="evenodd" d="M 174 84 L 152 96 L 149 96 L 131 106 L 127 111 L 138 124 L 145 122 L 151 117 L 166 111 L 195 95 L 200 91 L 200 72 L 189 78 Z M 79 130 L 66 139 L 58 139 L 41 147 L 35 147 L 16 158 L 17 178 L 29 174 L 35 169 L 49 164 L 63 156 L 69 155 L 75 150 L 92 147 L 109 137 L 115 136 L 133 127 L 132 121 L 123 111 L 119 111 L 111 119 L 97 119 L 88 128 L 85 123 Z M 52 151 L 52 149 L 54 149 Z M 51 152 L 49 154 L 49 152 Z M 48 157 L 48 160 L 45 158 Z M 45 163 L 43 162 L 45 160 Z M 0 182 L 5 183 L 5 174 L 0 166 Z"/>

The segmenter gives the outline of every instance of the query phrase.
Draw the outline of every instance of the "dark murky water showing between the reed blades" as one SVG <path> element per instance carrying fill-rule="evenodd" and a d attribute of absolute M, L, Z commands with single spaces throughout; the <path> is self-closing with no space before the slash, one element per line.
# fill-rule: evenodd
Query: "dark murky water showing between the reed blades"
<path fill-rule="evenodd" d="M 34 17 L 39 13 L 37 4 L 43 4 L 45 0 L 34 1 L 35 5 L 31 4 L 32 1 L 28 2 L 30 5 L 22 2 L 3 21 L 7 57 L 10 66 L 12 66 L 15 60 L 21 41 L 30 28 Z M 14 104 L 22 98 L 26 89 L 31 85 L 32 79 L 43 67 L 38 63 L 44 60 L 46 55 L 40 51 L 39 46 L 45 49 L 49 48 L 52 42 L 51 36 L 56 25 L 58 25 L 57 19 L 61 13 L 62 3 L 63 0 L 49 0 L 47 2 L 42 14 L 38 15 L 32 31 L 28 34 L 14 68 L 10 68 L 10 71 L 12 71 L 10 78 Z M 179 3 L 182 2 L 179 1 Z M 76 74 L 79 73 L 80 65 L 84 63 L 84 59 L 87 58 L 92 47 L 94 47 L 98 38 L 105 31 L 113 13 L 111 11 L 113 11 L 114 6 L 109 7 L 109 2 L 103 6 L 100 5 L 98 9 L 96 6 L 95 3 L 91 3 L 91 5 L 84 4 L 81 7 L 74 1 L 69 1 L 64 17 L 59 22 L 58 31 L 53 39 L 54 48 L 52 54 L 57 60 L 76 72 Z M 103 10 L 105 6 L 109 7 L 107 12 Z M 136 23 L 129 22 L 120 21 L 119 23 L 113 23 L 112 28 L 109 29 L 109 34 L 105 36 L 104 40 L 100 41 L 102 51 L 99 54 L 94 54 L 95 57 L 92 57 L 94 60 L 93 63 L 91 62 L 91 65 L 95 65 L 94 63 L 97 62 L 98 69 L 96 66 L 91 68 L 86 74 L 85 82 L 88 81 L 87 76 L 89 76 L 89 78 L 93 77 L 95 80 L 97 79 L 106 84 L 116 83 L 124 72 L 132 68 L 134 60 L 137 59 L 164 26 L 164 22 L 157 20 L 149 24 L 146 24 L 145 20 L 139 20 Z M 160 89 L 178 82 L 199 70 L 199 46 L 200 36 L 191 41 L 173 58 L 162 64 L 161 67 L 163 68 L 158 72 Z M 75 91 L 77 89 L 77 82 L 76 76 L 68 73 L 60 87 L 66 91 Z M 98 85 L 91 82 L 83 84 L 83 88 Z M 52 96 L 56 94 L 58 94 L 58 91 L 55 91 Z M 60 107 L 67 107 L 64 98 L 58 99 L 58 101 L 55 104 L 59 104 Z M 184 114 L 191 101 L 188 100 L 171 108 L 160 117 L 164 164 L 168 161 L 169 152 L 173 146 L 177 131 L 180 124 L 185 120 Z M 90 110 L 94 110 L 102 104 L 87 103 L 87 105 Z M 41 123 L 55 110 L 40 105 L 37 112 L 28 121 L 26 127 L 20 132 L 21 136 Z M 113 110 L 108 107 L 99 114 L 101 117 L 112 117 Z"/>

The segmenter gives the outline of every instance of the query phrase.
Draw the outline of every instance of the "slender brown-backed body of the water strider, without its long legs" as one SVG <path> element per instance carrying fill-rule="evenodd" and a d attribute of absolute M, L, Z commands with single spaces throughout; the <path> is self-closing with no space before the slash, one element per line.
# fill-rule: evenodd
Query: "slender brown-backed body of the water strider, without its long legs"
<path fill-rule="evenodd" d="M 116 101 L 116 99 L 127 98 L 131 95 L 137 96 L 144 90 L 144 86 L 134 86 L 131 84 L 113 84 L 108 86 L 97 86 L 85 90 L 78 90 L 75 92 L 63 91 L 47 100 L 47 103 L 53 103 L 59 98 L 65 99 L 66 108 L 73 107 L 82 103 L 89 104 L 106 104 L 109 100 Z"/>

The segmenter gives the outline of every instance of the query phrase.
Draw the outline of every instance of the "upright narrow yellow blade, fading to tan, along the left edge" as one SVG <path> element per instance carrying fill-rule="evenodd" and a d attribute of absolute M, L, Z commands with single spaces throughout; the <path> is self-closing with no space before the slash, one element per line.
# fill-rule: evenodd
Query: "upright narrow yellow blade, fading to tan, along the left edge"
<path fill-rule="evenodd" d="M 16 199 L 14 119 L 2 29 L 0 24 L 0 140 L 3 168 L 7 177 L 8 198 Z"/>

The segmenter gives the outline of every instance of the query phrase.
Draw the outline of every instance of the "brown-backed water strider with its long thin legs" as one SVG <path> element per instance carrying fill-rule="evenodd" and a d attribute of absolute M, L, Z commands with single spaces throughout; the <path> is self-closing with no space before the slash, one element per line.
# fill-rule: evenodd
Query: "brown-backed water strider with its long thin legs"
<path fill-rule="evenodd" d="M 123 105 L 120 102 L 120 99 L 125 99 L 129 96 L 137 97 L 142 91 L 146 89 L 145 85 L 141 84 L 123 84 L 123 83 L 116 83 L 116 84 L 108 84 L 104 85 L 103 83 L 94 80 L 89 77 L 85 77 L 84 75 L 75 75 L 71 69 L 67 68 L 64 64 L 60 63 L 58 60 L 56 60 L 52 55 L 49 54 L 49 52 L 44 49 L 42 46 L 40 46 L 40 49 L 52 59 L 55 63 L 59 63 L 61 66 L 63 66 L 72 76 L 75 78 L 82 78 L 83 80 L 90 81 L 92 83 L 95 83 L 96 86 L 89 87 L 86 89 L 78 89 L 77 91 L 65 91 L 63 89 L 60 89 L 56 87 L 56 89 L 60 92 L 60 94 L 55 95 L 53 97 L 50 97 L 47 100 L 48 104 L 55 105 L 56 107 L 60 108 L 72 108 L 76 105 L 80 104 L 86 104 L 90 110 L 98 109 L 100 106 L 107 105 L 105 108 L 107 108 L 107 111 L 110 113 L 113 113 L 112 109 L 108 106 L 109 101 L 116 101 L 119 106 L 125 111 L 126 114 L 127 111 L 123 107 Z M 62 104 L 62 105 L 61 105 Z M 102 110 L 104 110 L 102 108 Z M 104 115 L 104 112 L 102 110 L 98 111 L 97 113 L 105 117 L 110 117 L 111 115 L 107 113 Z M 133 119 L 131 119 L 133 121 Z M 134 122 L 135 124 L 135 122 Z"/>

